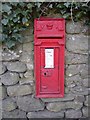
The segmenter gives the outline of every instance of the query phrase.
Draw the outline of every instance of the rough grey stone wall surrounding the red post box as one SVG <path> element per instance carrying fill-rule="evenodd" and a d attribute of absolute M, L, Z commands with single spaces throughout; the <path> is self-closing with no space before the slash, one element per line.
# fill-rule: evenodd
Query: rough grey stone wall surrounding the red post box
<path fill-rule="evenodd" d="M 65 97 L 35 98 L 33 28 L 23 33 L 15 50 L 3 47 L 0 60 L 0 100 L 3 118 L 88 117 L 88 27 L 66 22 Z M 2 47 L 2 46 L 0 46 Z M 37 58 L 38 59 L 38 58 Z M 2 90 L 2 92 L 1 92 Z M 89 100 L 90 101 L 90 100 Z M 89 114 L 90 115 L 90 114 Z"/>

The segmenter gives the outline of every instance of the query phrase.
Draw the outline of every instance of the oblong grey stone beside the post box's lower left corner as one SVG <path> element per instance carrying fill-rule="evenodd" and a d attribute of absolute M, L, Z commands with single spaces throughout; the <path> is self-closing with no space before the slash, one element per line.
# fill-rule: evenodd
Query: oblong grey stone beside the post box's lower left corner
<path fill-rule="evenodd" d="M 7 88 L 9 96 L 22 96 L 32 93 L 32 87 L 30 85 L 15 85 Z"/>

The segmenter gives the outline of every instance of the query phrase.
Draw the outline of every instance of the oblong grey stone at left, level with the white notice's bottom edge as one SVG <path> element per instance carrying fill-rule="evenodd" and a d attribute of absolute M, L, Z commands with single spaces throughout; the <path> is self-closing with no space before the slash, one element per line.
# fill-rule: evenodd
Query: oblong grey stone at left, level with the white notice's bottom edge
<path fill-rule="evenodd" d="M 22 62 L 11 62 L 11 63 L 7 64 L 7 69 L 9 71 L 25 72 L 26 71 L 26 65 Z"/>

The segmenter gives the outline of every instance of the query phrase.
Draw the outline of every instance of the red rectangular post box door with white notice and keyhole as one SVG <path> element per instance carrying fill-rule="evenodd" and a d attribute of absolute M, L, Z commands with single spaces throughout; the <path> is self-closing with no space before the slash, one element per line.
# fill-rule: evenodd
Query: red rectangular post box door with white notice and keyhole
<path fill-rule="evenodd" d="M 41 83 L 40 91 L 44 93 L 59 92 L 59 48 L 41 48 Z"/>

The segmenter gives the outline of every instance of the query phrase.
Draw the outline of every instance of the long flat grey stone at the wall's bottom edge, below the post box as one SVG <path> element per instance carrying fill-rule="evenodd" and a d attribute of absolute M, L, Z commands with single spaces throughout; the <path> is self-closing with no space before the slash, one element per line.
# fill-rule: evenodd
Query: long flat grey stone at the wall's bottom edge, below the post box
<path fill-rule="evenodd" d="M 38 111 L 38 112 L 29 112 L 27 114 L 28 118 L 63 118 L 64 112 L 50 112 L 50 111 Z"/>

